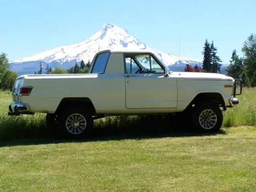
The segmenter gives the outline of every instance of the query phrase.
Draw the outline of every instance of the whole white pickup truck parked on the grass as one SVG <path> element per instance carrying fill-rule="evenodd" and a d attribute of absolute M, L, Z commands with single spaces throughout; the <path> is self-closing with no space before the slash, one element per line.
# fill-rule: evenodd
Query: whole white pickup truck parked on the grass
<path fill-rule="evenodd" d="M 191 127 L 214 132 L 222 126 L 222 111 L 237 105 L 241 93 L 240 79 L 172 72 L 151 52 L 104 50 L 88 74 L 19 76 L 8 114 L 46 113 L 47 126 L 70 138 L 89 135 L 94 120 L 106 116 L 178 112 L 186 112 Z"/>

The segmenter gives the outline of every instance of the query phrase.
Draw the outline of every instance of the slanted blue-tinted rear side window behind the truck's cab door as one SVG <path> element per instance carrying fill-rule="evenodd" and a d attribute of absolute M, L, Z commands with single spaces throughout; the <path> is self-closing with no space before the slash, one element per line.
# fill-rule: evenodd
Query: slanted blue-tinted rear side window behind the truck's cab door
<path fill-rule="evenodd" d="M 102 54 L 99 54 L 96 59 L 95 62 L 93 64 L 93 68 L 92 68 L 92 72 L 91 73 L 104 73 L 105 72 L 105 68 L 108 62 L 108 57 L 109 57 L 109 52 L 104 52 Z"/>

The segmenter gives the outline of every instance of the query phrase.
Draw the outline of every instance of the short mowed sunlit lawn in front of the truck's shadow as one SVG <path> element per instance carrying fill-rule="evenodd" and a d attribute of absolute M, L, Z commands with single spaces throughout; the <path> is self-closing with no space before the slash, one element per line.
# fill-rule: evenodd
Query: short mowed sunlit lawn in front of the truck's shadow
<path fill-rule="evenodd" d="M 0 191 L 256 191 L 255 127 L 212 136 L 42 142 L 2 143 Z"/>

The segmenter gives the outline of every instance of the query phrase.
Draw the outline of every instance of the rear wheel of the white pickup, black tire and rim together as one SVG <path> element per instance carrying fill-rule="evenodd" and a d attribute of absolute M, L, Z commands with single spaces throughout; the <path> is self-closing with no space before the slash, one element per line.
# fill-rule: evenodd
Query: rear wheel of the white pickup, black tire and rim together
<path fill-rule="evenodd" d="M 81 122 L 77 124 L 74 123 L 71 126 L 72 123 L 70 124 L 70 120 L 72 120 L 72 118 L 76 120 L 76 123 L 79 122 L 79 119 L 81 119 Z M 85 119 L 86 126 L 84 125 L 84 119 Z M 75 124 L 77 128 L 74 128 Z M 92 134 L 93 128 L 94 128 L 93 118 L 90 115 L 90 113 L 86 111 L 85 108 L 82 108 L 79 106 L 69 107 L 62 110 L 58 114 L 57 129 L 64 138 L 78 139 L 78 138 L 88 137 Z M 73 133 L 71 133 L 68 129 Z"/>

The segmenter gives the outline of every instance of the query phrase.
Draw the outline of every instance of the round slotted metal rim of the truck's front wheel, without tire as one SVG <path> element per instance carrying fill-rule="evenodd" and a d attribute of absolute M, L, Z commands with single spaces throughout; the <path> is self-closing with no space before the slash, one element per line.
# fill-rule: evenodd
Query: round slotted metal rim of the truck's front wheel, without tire
<path fill-rule="evenodd" d="M 206 109 L 199 116 L 200 126 L 204 129 L 211 129 L 217 123 L 217 115 L 214 111 Z"/>

